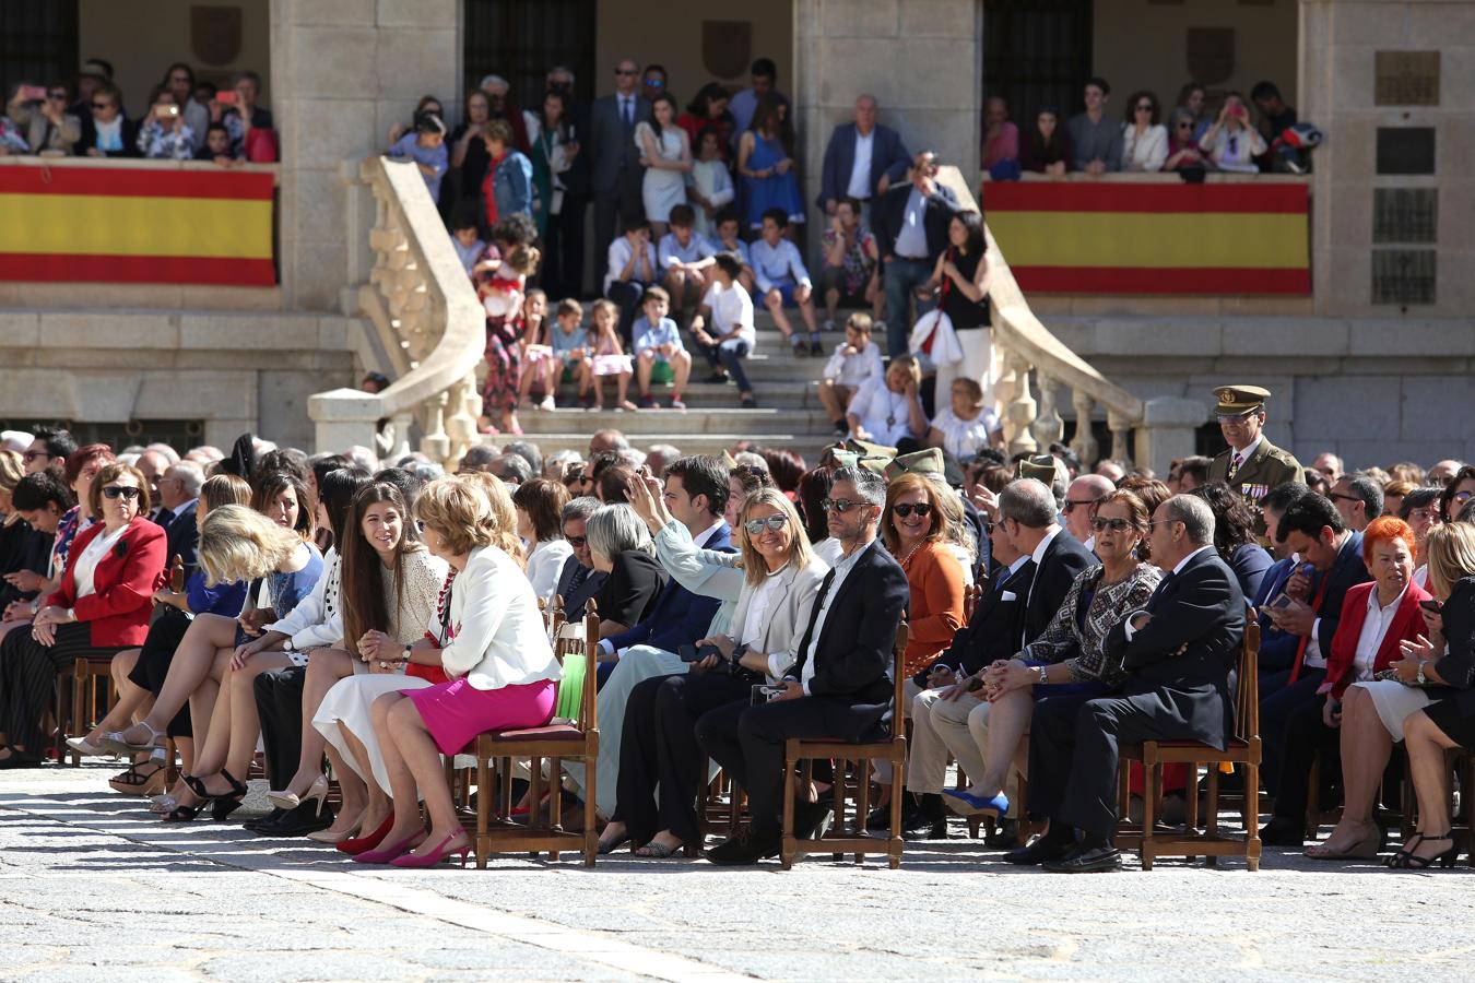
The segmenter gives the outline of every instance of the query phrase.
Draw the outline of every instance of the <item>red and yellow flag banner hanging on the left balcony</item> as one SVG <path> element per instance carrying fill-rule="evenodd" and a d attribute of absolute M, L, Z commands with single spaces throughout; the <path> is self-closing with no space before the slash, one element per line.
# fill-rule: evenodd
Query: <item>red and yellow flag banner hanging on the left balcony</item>
<path fill-rule="evenodd" d="M 0 167 L 0 280 L 271 286 L 273 175 Z"/>

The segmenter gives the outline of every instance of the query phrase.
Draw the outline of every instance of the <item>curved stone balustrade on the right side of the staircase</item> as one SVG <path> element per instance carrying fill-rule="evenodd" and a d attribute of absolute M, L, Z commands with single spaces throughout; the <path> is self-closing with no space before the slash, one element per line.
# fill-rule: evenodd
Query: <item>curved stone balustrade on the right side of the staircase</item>
<path fill-rule="evenodd" d="M 978 208 L 956 167 L 943 168 L 938 180 L 957 195 L 960 206 Z M 1112 457 L 1136 460 L 1165 475 L 1171 458 L 1193 454 L 1193 430 L 1205 419 L 1204 407 L 1173 396 L 1143 401 L 1096 371 L 1034 315 L 993 233 L 985 227 L 984 234 L 988 240 L 988 298 L 999 368 L 994 393 L 1002 407 L 1009 452 L 1034 452 L 1062 442 L 1065 419 L 1061 408 L 1068 398 L 1075 411 L 1069 448 L 1087 467 L 1102 457 Z M 1040 392 L 1038 399 L 1031 376 Z M 1106 413 L 1109 454 L 1102 454 L 1092 433 L 1097 408 Z"/>

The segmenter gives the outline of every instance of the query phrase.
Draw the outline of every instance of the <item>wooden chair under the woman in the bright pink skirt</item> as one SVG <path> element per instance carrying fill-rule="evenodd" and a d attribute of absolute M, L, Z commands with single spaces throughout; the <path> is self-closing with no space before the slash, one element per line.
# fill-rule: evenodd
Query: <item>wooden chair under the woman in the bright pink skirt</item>
<path fill-rule="evenodd" d="M 584 853 L 584 865 L 594 865 L 599 852 L 599 831 L 594 824 L 594 781 L 599 760 L 599 718 L 594 700 L 596 654 L 599 651 L 599 613 L 590 601 L 583 622 L 583 634 L 559 631 L 555 653 L 565 666 L 580 660 L 584 669 L 584 690 L 578 718 L 518 731 L 488 731 L 475 741 L 476 749 L 476 867 L 485 868 L 491 853 L 528 852 L 537 856 L 547 850 L 556 861 L 563 850 Z M 528 759 L 531 788 L 528 793 L 528 824 L 512 821 L 512 763 Z M 562 763 L 583 760 L 586 771 L 584 828 L 572 833 L 563 828 Z M 543 762 L 549 763 L 549 818 L 543 819 Z M 496 800 L 496 802 L 493 802 Z"/>

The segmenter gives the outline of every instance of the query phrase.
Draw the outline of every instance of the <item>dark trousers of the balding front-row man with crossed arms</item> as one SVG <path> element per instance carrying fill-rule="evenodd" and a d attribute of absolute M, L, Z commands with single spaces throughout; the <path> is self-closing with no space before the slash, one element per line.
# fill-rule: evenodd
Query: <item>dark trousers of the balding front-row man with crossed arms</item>
<path fill-rule="evenodd" d="M 1155 693 L 1040 700 L 1030 725 L 1030 816 L 1111 839 L 1122 741 L 1192 737 Z"/>

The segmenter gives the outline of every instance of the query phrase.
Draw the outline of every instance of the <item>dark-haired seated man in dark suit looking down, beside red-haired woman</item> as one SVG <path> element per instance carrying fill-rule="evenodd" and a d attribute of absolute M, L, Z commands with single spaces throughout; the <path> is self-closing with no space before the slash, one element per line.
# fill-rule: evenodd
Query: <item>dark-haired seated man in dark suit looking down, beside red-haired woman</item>
<path fill-rule="evenodd" d="M 1285 587 L 1286 595 L 1294 598 L 1291 606 L 1266 609 L 1276 628 L 1297 638 L 1285 685 L 1260 702 L 1261 774 L 1271 796 L 1280 790 L 1288 721 L 1304 703 L 1323 702 L 1317 688 L 1326 678 L 1326 656 L 1332 651 L 1347 590 L 1372 579 L 1363 562 L 1363 534 L 1344 526 L 1336 506 L 1316 492 L 1307 492 L 1286 508 L 1276 539 L 1310 563 L 1319 582 L 1313 588 L 1311 579 L 1297 572 Z M 1266 824 L 1261 840 L 1266 846 L 1301 846 L 1304 834 L 1302 821 L 1277 816 Z"/>

